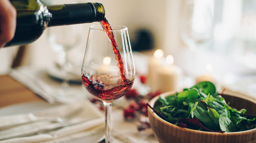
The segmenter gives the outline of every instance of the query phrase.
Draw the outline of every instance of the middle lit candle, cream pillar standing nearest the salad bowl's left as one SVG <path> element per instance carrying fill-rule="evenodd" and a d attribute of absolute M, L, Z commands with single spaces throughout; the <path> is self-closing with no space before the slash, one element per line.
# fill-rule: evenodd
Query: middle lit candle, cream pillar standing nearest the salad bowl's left
<path fill-rule="evenodd" d="M 171 55 L 166 57 L 166 64 L 159 67 L 156 73 L 156 89 L 161 93 L 167 91 L 179 91 L 182 81 L 182 69 L 174 65 Z"/>

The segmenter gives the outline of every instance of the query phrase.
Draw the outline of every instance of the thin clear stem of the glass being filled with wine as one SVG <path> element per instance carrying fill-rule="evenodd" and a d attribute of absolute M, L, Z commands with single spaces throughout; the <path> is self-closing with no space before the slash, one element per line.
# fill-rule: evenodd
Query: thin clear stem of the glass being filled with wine
<path fill-rule="evenodd" d="M 110 102 L 103 102 L 105 105 L 105 130 L 106 130 L 106 138 L 105 143 L 110 143 L 111 137 L 111 107 L 112 103 Z"/>

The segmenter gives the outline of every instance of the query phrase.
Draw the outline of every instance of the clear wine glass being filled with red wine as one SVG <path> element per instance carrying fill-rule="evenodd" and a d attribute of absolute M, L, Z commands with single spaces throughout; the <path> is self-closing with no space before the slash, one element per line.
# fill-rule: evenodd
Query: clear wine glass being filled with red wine
<path fill-rule="evenodd" d="M 105 105 L 106 143 L 112 140 L 112 102 L 130 90 L 135 78 L 128 29 L 111 26 L 112 30 L 103 30 L 101 25 L 90 27 L 81 70 L 85 88 Z"/>

